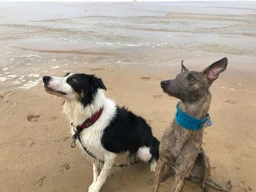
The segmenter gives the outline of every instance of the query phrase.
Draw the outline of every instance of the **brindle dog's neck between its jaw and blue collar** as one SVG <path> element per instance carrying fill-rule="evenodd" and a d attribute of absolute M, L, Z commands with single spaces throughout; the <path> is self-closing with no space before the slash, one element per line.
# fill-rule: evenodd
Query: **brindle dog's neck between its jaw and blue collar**
<path fill-rule="evenodd" d="M 204 118 L 210 108 L 211 104 L 211 93 L 207 93 L 199 101 L 187 102 L 180 101 L 178 107 L 183 112 L 186 112 L 189 115 L 192 115 L 195 118 Z"/>

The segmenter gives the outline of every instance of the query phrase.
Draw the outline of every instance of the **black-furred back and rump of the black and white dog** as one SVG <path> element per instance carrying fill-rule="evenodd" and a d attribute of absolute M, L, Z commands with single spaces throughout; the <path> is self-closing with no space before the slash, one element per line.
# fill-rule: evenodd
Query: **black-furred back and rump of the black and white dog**
<path fill-rule="evenodd" d="M 152 136 L 151 127 L 146 120 L 125 107 L 116 108 L 115 117 L 102 135 L 102 145 L 112 153 L 129 151 L 130 155 L 137 153 L 140 147 L 148 148 L 151 156 L 148 156 L 149 153 L 138 155 L 143 161 L 157 161 L 159 157 L 159 141 Z"/>

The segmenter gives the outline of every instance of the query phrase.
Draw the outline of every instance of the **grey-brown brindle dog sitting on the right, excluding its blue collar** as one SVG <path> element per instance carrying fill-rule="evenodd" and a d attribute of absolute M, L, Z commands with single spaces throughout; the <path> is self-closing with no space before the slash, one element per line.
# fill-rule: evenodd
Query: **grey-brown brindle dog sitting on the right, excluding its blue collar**
<path fill-rule="evenodd" d="M 181 63 L 181 73 L 174 80 L 162 81 L 161 87 L 169 96 L 181 100 L 178 107 L 183 112 L 195 118 L 204 118 L 211 103 L 209 88 L 226 67 L 227 58 L 222 58 L 211 64 L 203 72 L 190 72 Z M 208 191 L 208 185 L 220 191 L 230 191 L 230 181 L 227 186 L 222 187 L 209 177 L 211 166 L 209 158 L 203 150 L 202 140 L 203 128 L 190 131 L 179 126 L 175 119 L 173 120 L 170 127 L 165 130 L 160 142 L 160 157 L 153 185 L 154 192 L 158 191 L 159 183 L 170 174 L 175 174 L 172 192 L 181 191 L 184 179 L 187 178 L 199 182 L 204 192 Z M 169 167 L 169 171 L 163 174 L 165 165 Z"/>

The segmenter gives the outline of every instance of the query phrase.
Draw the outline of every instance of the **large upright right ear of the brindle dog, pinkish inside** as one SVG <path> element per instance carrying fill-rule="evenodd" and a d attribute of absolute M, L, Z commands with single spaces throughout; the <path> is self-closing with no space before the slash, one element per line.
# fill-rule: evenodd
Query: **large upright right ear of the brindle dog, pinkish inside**
<path fill-rule="evenodd" d="M 224 72 L 227 68 L 227 58 L 222 58 L 219 61 L 216 61 L 214 64 L 211 64 L 206 69 L 203 70 L 203 74 L 205 74 L 208 80 L 214 81 L 217 80 L 219 74 Z"/>

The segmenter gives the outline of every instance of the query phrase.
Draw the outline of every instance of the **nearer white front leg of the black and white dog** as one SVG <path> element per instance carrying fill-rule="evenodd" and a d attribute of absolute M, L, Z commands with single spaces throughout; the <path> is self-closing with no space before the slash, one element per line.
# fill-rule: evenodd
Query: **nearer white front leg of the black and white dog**
<path fill-rule="evenodd" d="M 115 153 L 108 153 L 105 155 L 105 163 L 103 165 L 102 171 L 97 178 L 95 183 L 92 183 L 89 187 L 89 192 L 99 192 L 102 186 L 104 185 L 108 174 L 110 173 L 110 169 L 115 164 L 116 154 Z"/>

